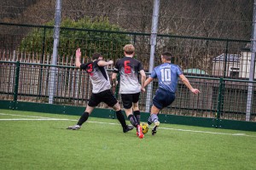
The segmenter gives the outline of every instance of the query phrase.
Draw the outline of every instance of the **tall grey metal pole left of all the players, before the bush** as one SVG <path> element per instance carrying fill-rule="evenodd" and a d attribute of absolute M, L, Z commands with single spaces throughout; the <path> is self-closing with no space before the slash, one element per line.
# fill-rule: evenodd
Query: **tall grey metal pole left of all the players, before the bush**
<path fill-rule="evenodd" d="M 55 3 L 55 26 L 54 26 L 54 45 L 51 59 L 51 65 L 57 65 L 58 46 L 60 37 L 61 25 L 61 0 L 56 0 Z M 50 67 L 50 80 L 49 80 L 49 104 L 53 104 L 55 96 L 55 66 Z"/>

